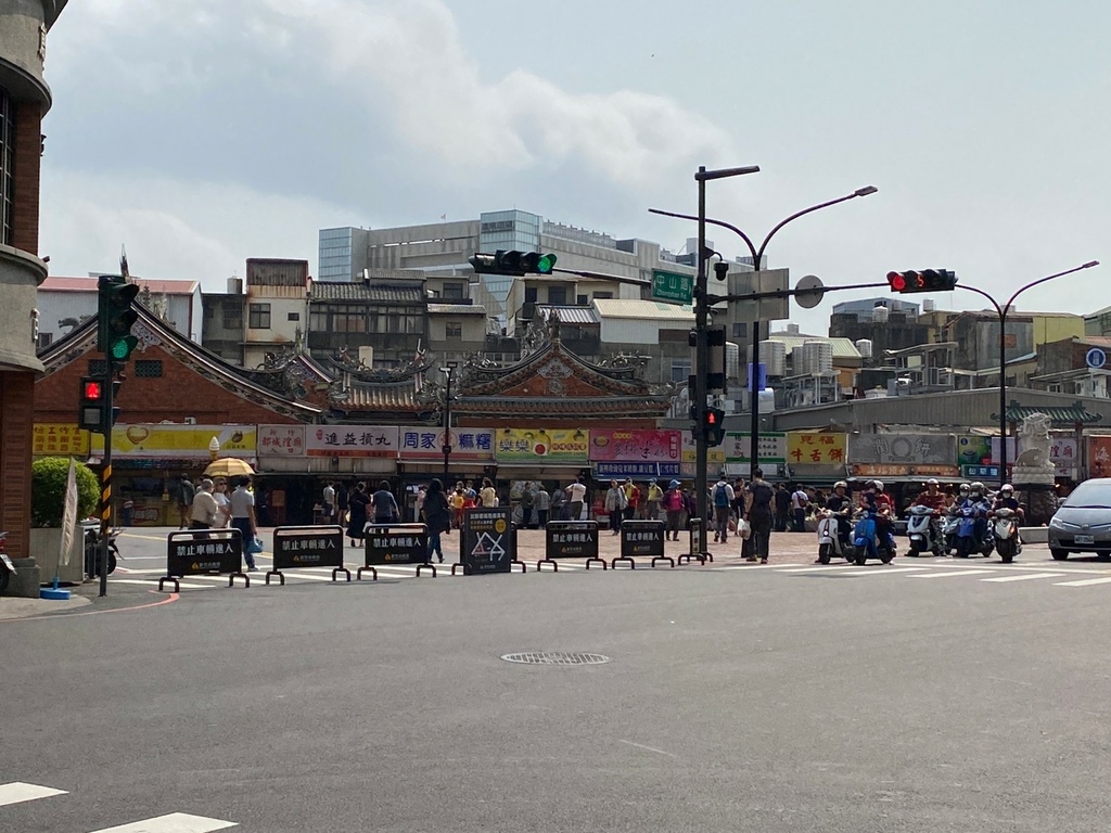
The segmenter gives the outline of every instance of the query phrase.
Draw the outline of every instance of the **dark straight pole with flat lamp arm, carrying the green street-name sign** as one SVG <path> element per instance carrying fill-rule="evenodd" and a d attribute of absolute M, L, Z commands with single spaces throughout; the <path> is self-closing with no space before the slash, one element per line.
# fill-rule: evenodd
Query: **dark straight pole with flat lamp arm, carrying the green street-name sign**
<path fill-rule="evenodd" d="M 694 283 L 694 407 L 693 431 L 694 435 L 694 506 L 701 528 L 698 532 L 697 549 L 691 555 L 700 561 L 704 560 L 708 551 L 705 543 L 707 530 L 710 526 L 708 516 L 709 505 L 707 502 L 707 466 L 709 465 L 710 448 L 707 444 L 705 433 L 702 431 L 705 424 L 707 409 L 707 375 L 710 372 L 709 340 L 707 328 L 710 318 L 710 304 L 707 301 L 707 251 L 705 251 L 705 183 L 712 179 L 724 179 L 727 177 L 740 177 L 745 173 L 757 173 L 758 165 L 745 168 L 720 168 L 718 170 L 707 170 L 705 165 L 699 165 L 694 173 L 694 181 L 698 182 L 698 277 Z"/>

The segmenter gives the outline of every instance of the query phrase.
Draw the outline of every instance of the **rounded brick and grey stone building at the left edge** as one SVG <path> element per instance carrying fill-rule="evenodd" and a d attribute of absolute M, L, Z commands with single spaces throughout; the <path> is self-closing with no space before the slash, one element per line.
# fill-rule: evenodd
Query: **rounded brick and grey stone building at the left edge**
<path fill-rule="evenodd" d="M 23 560 L 31 555 L 34 378 L 42 372 L 34 354 L 42 319 L 36 298 L 47 277 L 39 257 L 39 175 L 51 97 L 42 72 L 47 32 L 66 1 L 0 4 L 0 528 L 20 570 L 12 586 L 36 596 L 38 568 Z"/>

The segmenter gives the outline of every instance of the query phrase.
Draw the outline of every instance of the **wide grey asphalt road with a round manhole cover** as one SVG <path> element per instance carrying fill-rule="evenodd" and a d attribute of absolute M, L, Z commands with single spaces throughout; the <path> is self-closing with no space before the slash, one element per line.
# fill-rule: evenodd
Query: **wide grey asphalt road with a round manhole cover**
<path fill-rule="evenodd" d="M 0 622 L 0 784 L 67 792 L 0 829 L 1102 830 L 1111 584 L 1060 584 L 1111 574 L 988 566 L 321 582 Z M 500 659 L 527 651 L 612 661 Z"/>

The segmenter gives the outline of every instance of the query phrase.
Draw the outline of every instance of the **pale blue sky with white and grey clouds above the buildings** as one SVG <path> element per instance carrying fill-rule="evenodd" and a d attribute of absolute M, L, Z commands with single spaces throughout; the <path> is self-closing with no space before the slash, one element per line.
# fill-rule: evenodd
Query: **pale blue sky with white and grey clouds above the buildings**
<path fill-rule="evenodd" d="M 40 252 L 226 291 L 317 232 L 518 208 L 680 250 L 708 213 L 792 283 L 949 269 L 1025 310 L 1111 304 L 1102 0 L 81 0 L 48 39 Z M 747 254 L 731 232 L 710 234 Z M 881 290 L 879 294 L 884 294 Z M 830 293 L 792 304 L 824 333 Z M 915 295 L 921 300 L 928 295 Z M 982 309 L 967 291 L 940 309 Z"/>

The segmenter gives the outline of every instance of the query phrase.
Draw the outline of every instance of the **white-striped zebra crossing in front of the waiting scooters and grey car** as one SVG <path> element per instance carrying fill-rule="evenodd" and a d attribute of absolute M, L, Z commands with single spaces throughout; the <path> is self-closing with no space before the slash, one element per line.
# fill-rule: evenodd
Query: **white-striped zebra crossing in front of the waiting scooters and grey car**
<path fill-rule="evenodd" d="M 719 572 L 753 570 L 752 565 L 729 564 L 713 568 Z M 764 570 L 767 571 L 767 570 Z M 763 571 L 762 571 L 763 572 Z M 935 563 L 908 565 L 905 562 L 891 564 L 823 564 L 821 566 L 790 565 L 772 568 L 770 572 L 780 575 L 835 575 L 858 579 L 963 579 L 985 584 L 1014 584 L 1020 582 L 1047 582 L 1057 588 L 1092 588 L 1111 584 L 1111 570 L 1084 568 L 1053 568 L 1045 564 L 1002 563 Z"/>

